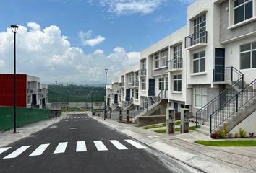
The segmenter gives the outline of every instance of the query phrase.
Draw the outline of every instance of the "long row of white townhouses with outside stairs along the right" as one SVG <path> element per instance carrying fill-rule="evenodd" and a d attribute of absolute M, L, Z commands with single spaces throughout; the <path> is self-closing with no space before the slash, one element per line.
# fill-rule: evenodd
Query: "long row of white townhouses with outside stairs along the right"
<path fill-rule="evenodd" d="M 132 99 L 136 110 L 153 109 L 140 116 L 186 107 L 200 132 L 231 130 L 255 111 L 256 0 L 195 1 L 187 25 L 142 50 L 138 64 L 112 84 L 119 107 Z"/>

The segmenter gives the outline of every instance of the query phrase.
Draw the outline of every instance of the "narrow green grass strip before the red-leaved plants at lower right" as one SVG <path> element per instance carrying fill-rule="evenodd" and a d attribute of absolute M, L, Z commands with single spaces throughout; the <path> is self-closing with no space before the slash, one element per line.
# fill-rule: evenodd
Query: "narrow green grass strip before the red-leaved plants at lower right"
<path fill-rule="evenodd" d="M 237 140 L 237 141 L 195 141 L 204 146 L 256 146 L 256 141 Z"/>

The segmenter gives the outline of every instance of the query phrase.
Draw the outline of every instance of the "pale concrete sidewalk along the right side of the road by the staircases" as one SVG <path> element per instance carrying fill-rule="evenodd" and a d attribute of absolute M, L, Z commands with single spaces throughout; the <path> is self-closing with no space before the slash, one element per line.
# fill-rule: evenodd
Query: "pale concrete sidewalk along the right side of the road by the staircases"
<path fill-rule="evenodd" d="M 256 172 L 256 147 L 201 146 L 194 141 L 211 138 L 197 132 L 169 136 L 114 120 L 90 117 L 203 172 Z"/>

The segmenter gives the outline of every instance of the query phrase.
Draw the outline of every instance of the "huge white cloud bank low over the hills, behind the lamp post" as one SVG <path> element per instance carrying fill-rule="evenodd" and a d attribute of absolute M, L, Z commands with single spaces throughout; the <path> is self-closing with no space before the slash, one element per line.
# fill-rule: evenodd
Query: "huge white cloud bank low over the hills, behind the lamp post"
<path fill-rule="evenodd" d="M 100 49 L 85 53 L 73 47 L 59 27 L 39 28 L 40 25 L 30 23 L 27 27 L 20 26 L 17 32 L 17 73 L 39 76 L 41 81 L 104 81 L 104 69 L 108 68 L 111 81 L 121 68 L 140 62 L 137 57 L 140 53 L 129 53 L 120 47 L 114 48 L 110 55 Z M 85 35 L 90 36 L 91 32 Z M 12 30 L 0 32 L 0 40 L 0 73 L 12 73 Z"/>

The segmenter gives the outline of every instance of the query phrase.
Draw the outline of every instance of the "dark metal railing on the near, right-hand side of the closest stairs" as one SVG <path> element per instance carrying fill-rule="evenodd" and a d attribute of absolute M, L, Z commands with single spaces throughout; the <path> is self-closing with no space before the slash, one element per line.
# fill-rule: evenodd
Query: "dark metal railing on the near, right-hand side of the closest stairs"
<path fill-rule="evenodd" d="M 210 133 L 254 97 L 256 97 L 256 79 L 210 115 Z"/>

